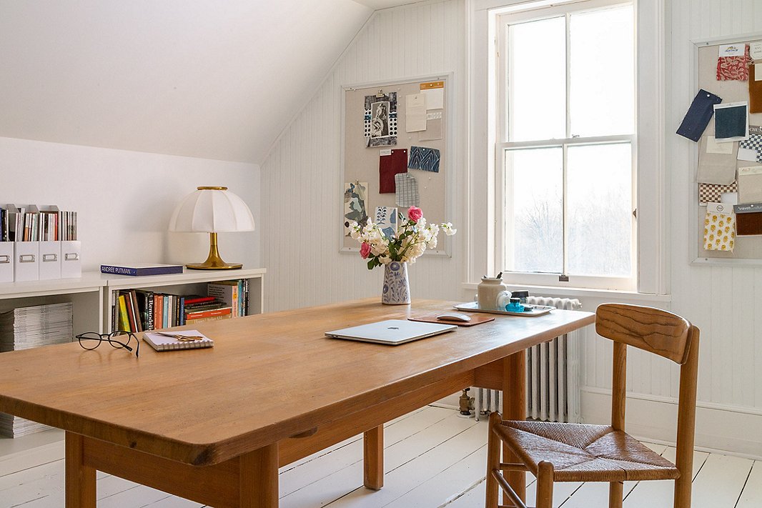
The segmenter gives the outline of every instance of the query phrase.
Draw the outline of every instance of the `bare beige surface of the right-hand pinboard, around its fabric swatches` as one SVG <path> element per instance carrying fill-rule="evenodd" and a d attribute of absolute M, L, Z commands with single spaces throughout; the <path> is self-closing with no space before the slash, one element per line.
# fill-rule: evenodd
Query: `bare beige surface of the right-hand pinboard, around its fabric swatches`
<path fill-rule="evenodd" d="M 719 56 L 719 46 L 730 43 L 754 43 L 762 41 L 762 34 L 741 35 L 736 37 L 726 37 L 722 40 L 704 40 L 695 41 L 693 53 L 693 82 L 694 89 L 709 91 L 722 97 L 722 103 L 749 101 L 749 83 L 748 81 L 720 81 L 717 79 L 717 66 Z M 762 72 L 762 59 L 755 61 L 758 65 L 756 69 Z M 762 113 L 750 113 L 748 118 L 750 129 L 752 126 L 762 126 Z M 713 136 L 715 132 L 715 117 L 706 126 L 704 136 L 707 134 Z M 751 131 L 750 131 L 751 132 Z M 699 145 L 699 143 L 696 143 Z M 762 235 L 754 236 L 736 236 L 735 246 L 732 252 L 715 251 L 704 249 L 704 222 L 706 218 L 706 204 L 702 201 L 699 184 L 696 183 L 695 174 L 699 163 L 699 150 L 693 151 L 693 160 L 691 161 L 691 185 L 693 187 L 694 212 L 692 214 L 691 228 L 693 233 L 693 264 L 719 264 L 719 265 L 762 265 Z M 738 161 L 738 167 L 757 166 L 757 162 Z"/>

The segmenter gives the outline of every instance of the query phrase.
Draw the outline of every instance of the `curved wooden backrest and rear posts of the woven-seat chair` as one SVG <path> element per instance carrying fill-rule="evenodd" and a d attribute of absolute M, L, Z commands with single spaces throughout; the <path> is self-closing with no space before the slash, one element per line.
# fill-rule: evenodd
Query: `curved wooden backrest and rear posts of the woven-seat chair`
<path fill-rule="evenodd" d="M 627 346 L 680 364 L 675 464 L 681 474 L 690 475 L 696 428 L 699 329 L 684 318 L 659 308 L 604 303 L 595 312 L 595 331 L 614 341 L 611 426 L 616 430 L 624 430 Z M 690 481 L 684 488 L 690 489 Z"/>

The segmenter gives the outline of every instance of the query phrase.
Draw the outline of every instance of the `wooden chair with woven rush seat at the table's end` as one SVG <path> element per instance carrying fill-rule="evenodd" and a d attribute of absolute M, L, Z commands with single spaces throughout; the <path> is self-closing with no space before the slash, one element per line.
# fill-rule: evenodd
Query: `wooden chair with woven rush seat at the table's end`
<path fill-rule="evenodd" d="M 674 480 L 674 507 L 690 508 L 698 328 L 658 308 L 608 303 L 597 308 L 595 331 L 613 340 L 611 425 L 511 421 L 491 414 L 486 508 L 498 508 L 498 486 L 504 490 L 504 502 L 510 499 L 514 506 L 527 507 L 501 471 L 530 471 L 535 475 L 536 508 L 551 508 L 554 481 L 607 481 L 609 506 L 620 508 L 623 482 L 643 480 Z M 677 464 L 624 432 L 627 346 L 680 364 Z M 507 453 L 504 460 L 517 458 L 520 463 L 501 462 L 501 442 Z"/>

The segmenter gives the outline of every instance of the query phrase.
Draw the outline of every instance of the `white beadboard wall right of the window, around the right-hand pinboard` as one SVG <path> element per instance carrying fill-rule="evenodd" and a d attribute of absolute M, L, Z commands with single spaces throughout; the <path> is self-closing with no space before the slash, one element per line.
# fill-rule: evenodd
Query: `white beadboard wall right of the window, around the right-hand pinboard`
<path fill-rule="evenodd" d="M 758 0 L 671 0 L 667 5 L 667 171 L 671 203 L 671 310 L 701 329 L 697 442 L 762 455 L 762 269 L 691 266 L 695 144 L 674 134 L 693 100 L 693 40 L 762 32 Z M 641 225 L 643 226 L 643 225 Z M 588 299 L 588 305 L 591 301 Z M 652 304 L 648 304 L 652 305 Z M 659 305 L 656 303 L 655 305 Z M 583 414 L 603 420 L 610 348 L 588 341 Z M 630 353 L 636 430 L 670 439 L 677 368 Z M 587 403 L 587 404 L 585 404 Z M 634 408 L 634 409 L 633 409 Z"/>

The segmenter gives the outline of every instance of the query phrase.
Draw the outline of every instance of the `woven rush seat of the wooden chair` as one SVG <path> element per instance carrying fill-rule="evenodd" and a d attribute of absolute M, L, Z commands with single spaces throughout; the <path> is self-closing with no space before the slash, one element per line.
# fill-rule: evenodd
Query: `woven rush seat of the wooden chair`
<path fill-rule="evenodd" d="M 607 425 L 504 420 L 495 432 L 535 476 L 539 462 L 550 462 L 555 481 L 680 478 L 672 462 Z"/>

